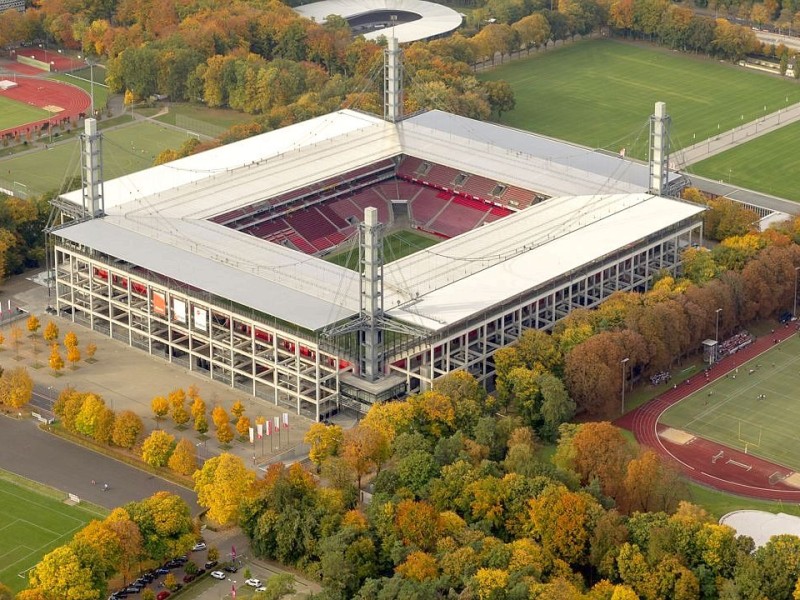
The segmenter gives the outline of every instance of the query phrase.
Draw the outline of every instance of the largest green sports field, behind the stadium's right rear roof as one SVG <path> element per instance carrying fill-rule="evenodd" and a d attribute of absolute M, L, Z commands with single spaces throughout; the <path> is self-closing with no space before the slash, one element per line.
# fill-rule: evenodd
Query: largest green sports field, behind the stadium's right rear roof
<path fill-rule="evenodd" d="M 608 39 L 539 51 L 480 78 L 511 84 L 516 108 L 503 123 L 638 158 L 647 157 L 657 101 L 672 117 L 673 149 L 800 101 L 793 81 Z"/>

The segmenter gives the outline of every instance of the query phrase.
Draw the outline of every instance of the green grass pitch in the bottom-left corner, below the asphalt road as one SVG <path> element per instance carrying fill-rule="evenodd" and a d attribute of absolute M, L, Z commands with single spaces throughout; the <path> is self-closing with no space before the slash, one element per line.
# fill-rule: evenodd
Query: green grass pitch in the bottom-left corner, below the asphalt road
<path fill-rule="evenodd" d="M 15 592 L 28 587 L 28 571 L 67 543 L 92 519 L 80 506 L 0 478 L 0 582 Z"/>

